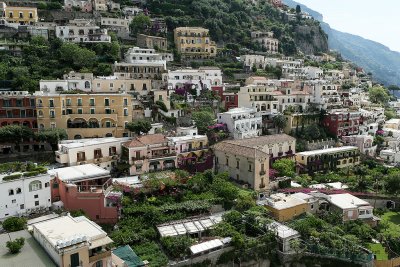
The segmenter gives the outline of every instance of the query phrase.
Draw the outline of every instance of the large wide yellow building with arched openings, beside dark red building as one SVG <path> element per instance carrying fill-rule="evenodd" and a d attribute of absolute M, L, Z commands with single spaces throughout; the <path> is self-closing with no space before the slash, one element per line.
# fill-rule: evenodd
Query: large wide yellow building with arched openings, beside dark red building
<path fill-rule="evenodd" d="M 39 129 L 66 129 L 68 139 L 126 137 L 132 121 L 130 94 L 36 93 Z"/>

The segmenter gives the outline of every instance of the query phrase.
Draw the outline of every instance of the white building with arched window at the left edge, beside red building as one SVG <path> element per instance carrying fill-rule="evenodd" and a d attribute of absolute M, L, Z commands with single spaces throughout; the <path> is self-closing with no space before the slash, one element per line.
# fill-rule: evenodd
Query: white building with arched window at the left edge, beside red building
<path fill-rule="evenodd" d="M 49 174 L 8 178 L 18 174 L 21 173 L 0 175 L 0 220 L 44 211 L 51 206 Z"/>

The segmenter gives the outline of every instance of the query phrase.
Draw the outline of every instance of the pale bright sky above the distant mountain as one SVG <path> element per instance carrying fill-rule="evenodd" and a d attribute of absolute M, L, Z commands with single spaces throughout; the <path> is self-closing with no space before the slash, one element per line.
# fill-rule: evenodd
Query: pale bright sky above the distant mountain
<path fill-rule="evenodd" d="M 295 0 L 324 16 L 332 28 L 400 52 L 400 0 Z"/>

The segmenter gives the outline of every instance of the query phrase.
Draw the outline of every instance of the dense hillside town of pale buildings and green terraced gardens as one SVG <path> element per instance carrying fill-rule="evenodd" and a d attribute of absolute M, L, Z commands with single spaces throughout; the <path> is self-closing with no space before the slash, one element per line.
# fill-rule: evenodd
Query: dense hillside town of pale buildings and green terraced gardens
<path fill-rule="evenodd" d="M 0 2 L 2 57 L 72 62 L 0 62 L 0 266 L 397 266 L 400 88 L 272 29 L 236 49 L 170 25 L 143 1 Z"/>

